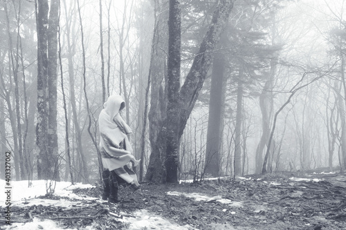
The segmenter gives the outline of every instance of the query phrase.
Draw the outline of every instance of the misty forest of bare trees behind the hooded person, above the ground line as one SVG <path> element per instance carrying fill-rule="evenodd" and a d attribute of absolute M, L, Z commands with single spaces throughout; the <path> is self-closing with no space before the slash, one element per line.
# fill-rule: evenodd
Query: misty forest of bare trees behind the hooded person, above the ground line
<path fill-rule="evenodd" d="M 97 119 L 118 94 L 141 181 L 343 171 L 345 7 L 1 1 L 1 153 L 15 180 L 99 180 Z"/>

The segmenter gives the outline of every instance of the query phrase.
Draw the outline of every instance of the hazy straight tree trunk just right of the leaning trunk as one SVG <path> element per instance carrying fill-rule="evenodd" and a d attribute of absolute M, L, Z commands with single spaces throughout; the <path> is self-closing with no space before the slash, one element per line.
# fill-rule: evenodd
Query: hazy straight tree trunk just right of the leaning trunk
<path fill-rule="evenodd" d="M 204 173 L 219 176 L 219 148 L 221 146 L 221 122 L 223 108 L 223 85 L 225 75 L 225 55 L 216 53 L 212 61 L 210 86 L 209 117 L 206 144 L 206 167 Z"/>

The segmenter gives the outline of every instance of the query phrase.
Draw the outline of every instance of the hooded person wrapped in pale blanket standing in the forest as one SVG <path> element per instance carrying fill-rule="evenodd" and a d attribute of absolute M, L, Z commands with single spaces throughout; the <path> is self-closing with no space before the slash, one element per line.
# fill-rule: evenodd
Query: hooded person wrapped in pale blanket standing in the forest
<path fill-rule="evenodd" d="M 132 155 L 132 148 L 127 135 L 131 128 L 120 116 L 125 102 L 119 95 L 111 95 L 104 103 L 98 118 L 100 127 L 100 152 L 104 171 L 102 172 L 102 199 L 111 203 L 119 202 L 120 184 L 129 185 L 134 191 L 139 189 L 136 173 L 127 164 L 137 166 L 140 160 Z"/>

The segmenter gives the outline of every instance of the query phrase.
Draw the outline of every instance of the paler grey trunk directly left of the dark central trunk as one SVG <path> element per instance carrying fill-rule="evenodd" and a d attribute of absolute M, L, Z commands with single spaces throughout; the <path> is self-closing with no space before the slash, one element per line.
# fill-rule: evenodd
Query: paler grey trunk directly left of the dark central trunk
<path fill-rule="evenodd" d="M 165 90 L 165 62 L 166 52 L 162 48 L 167 47 L 167 1 L 158 3 L 155 14 L 157 21 L 156 33 L 153 37 L 153 60 L 151 64 L 150 81 L 150 108 L 149 108 L 149 141 L 152 153 L 149 157 L 149 165 L 145 180 L 151 182 L 165 181 L 165 128 L 163 121 L 166 117 L 167 94 Z"/>

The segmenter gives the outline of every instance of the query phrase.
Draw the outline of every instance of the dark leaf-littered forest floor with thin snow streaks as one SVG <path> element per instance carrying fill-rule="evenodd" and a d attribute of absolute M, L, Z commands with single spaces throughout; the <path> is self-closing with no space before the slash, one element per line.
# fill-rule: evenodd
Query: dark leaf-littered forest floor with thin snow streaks
<path fill-rule="evenodd" d="M 98 186 L 73 193 L 88 199 L 42 196 L 78 203 L 59 207 L 28 200 L 25 207 L 12 207 L 12 215 L 22 223 L 53 220 L 61 229 L 346 229 L 346 175 L 340 173 L 142 184 L 135 193 L 122 189 L 119 204 L 102 202 Z"/>

